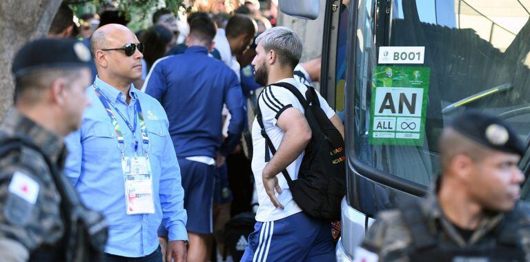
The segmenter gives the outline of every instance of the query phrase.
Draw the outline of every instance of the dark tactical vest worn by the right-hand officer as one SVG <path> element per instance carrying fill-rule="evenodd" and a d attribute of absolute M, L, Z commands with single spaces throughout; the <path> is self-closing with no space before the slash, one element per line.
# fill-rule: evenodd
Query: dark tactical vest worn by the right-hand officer
<path fill-rule="evenodd" d="M 458 247 L 443 239 L 442 234 L 431 232 L 418 200 L 405 201 L 399 208 L 411 232 L 412 243 L 407 250 L 411 262 L 524 261 L 516 208 L 506 213 L 495 229 L 469 247 Z M 391 256 L 393 255 L 389 254 L 387 258 L 391 260 Z"/>

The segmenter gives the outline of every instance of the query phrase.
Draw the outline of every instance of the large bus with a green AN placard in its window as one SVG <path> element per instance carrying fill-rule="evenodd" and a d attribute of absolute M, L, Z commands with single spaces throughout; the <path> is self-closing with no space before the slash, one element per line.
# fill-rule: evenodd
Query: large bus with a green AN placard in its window
<path fill-rule="evenodd" d="M 320 93 L 344 116 L 346 187 L 337 261 L 377 212 L 426 194 L 448 120 L 478 110 L 509 122 L 530 171 L 530 1 L 325 1 Z M 279 1 L 315 19 L 319 0 Z M 522 185 L 523 200 L 530 183 Z"/>

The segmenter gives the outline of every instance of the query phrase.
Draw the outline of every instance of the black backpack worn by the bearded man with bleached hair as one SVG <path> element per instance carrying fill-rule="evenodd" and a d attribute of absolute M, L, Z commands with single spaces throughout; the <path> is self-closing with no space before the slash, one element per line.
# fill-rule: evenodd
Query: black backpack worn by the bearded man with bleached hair
<path fill-rule="evenodd" d="M 297 97 L 304 107 L 304 115 L 313 133 L 305 149 L 297 180 L 292 180 L 286 170 L 282 171 L 291 194 L 297 205 L 309 216 L 322 220 L 340 220 L 340 202 L 346 194 L 344 139 L 320 107 L 313 86 L 307 86 L 305 98 L 292 84 L 279 82 L 273 86 L 286 88 Z M 259 103 L 257 104 L 256 118 L 267 142 L 265 161 L 268 162 L 268 148 L 273 154 L 276 149 L 265 131 L 262 112 L 259 110 Z"/>

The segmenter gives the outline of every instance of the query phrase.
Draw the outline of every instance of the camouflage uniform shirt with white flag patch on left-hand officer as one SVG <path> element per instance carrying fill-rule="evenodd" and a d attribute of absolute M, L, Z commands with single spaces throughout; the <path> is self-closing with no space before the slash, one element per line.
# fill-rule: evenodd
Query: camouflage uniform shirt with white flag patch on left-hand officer
<path fill-rule="evenodd" d="M 58 135 L 12 110 L 0 126 L 0 137 L 15 135 L 30 138 L 62 169 L 66 150 Z M 11 239 L 23 247 L 13 246 L 2 259 L 8 259 L 8 255 L 20 258 L 24 252 L 47 246 L 60 247 L 64 233 L 60 203 L 50 170 L 38 152 L 22 148 L 3 156 L 0 160 L 0 238 Z"/>

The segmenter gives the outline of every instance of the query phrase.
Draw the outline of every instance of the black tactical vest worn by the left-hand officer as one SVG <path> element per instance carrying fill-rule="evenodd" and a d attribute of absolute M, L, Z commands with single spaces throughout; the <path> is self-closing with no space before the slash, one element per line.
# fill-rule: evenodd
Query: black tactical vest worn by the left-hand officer
<path fill-rule="evenodd" d="M 28 147 L 41 154 L 61 195 L 61 213 L 66 220 L 66 246 L 63 247 L 66 261 L 102 261 L 108 238 L 108 224 L 104 216 L 85 207 L 68 178 L 59 172 L 50 158 L 28 138 L 19 136 L 0 140 L 0 158 L 22 147 Z M 46 255 L 31 259 L 48 261 Z"/>

